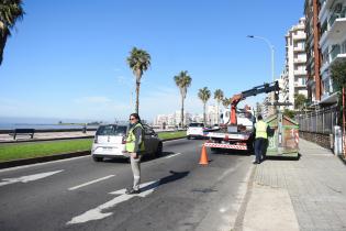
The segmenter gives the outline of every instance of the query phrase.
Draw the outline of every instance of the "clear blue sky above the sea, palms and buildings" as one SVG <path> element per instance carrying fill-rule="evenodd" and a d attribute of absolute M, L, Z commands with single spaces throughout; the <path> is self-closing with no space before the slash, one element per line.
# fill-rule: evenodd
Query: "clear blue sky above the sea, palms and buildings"
<path fill-rule="evenodd" d="M 127 119 L 135 82 L 126 57 L 147 51 L 139 114 L 180 110 L 174 76 L 192 78 L 186 111 L 202 113 L 198 90 L 226 97 L 271 81 L 284 65 L 284 35 L 303 15 L 303 0 L 24 0 L 0 66 L 0 117 L 57 120 Z M 248 98 L 255 105 L 264 96 Z"/>

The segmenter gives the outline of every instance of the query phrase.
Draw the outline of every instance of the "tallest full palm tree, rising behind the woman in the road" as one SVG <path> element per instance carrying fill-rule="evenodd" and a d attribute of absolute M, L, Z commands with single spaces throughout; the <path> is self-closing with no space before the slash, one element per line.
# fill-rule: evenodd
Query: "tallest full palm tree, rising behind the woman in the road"
<path fill-rule="evenodd" d="M 127 64 L 136 77 L 136 113 L 138 113 L 141 78 L 150 66 L 150 55 L 144 50 L 133 47 L 127 57 Z"/>

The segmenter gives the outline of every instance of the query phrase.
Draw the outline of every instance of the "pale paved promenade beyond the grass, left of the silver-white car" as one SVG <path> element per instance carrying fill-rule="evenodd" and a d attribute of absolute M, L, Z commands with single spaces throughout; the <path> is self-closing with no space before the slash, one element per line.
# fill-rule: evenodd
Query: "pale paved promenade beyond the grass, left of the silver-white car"
<path fill-rule="evenodd" d="M 96 131 L 88 131 L 87 133 L 80 132 L 37 132 L 34 138 L 31 139 L 30 135 L 18 135 L 16 140 L 9 134 L 0 134 L 0 143 L 8 142 L 24 142 L 24 141 L 42 141 L 42 140 L 58 140 L 58 139 L 69 139 L 69 138 L 88 138 L 93 136 Z"/>

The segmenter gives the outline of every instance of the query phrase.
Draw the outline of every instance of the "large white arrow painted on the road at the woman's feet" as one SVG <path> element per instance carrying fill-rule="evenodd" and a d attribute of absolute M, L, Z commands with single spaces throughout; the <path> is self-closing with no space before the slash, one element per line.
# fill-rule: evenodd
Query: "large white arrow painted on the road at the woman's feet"
<path fill-rule="evenodd" d="M 100 220 L 103 218 L 107 218 L 111 215 L 113 215 L 113 212 L 105 212 L 103 213 L 102 210 L 115 207 L 118 204 L 124 202 L 126 200 L 130 200 L 133 197 L 146 197 L 149 194 L 152 194 L 157 187 L 159 186 L 159 180 L 157 182 L 149 182 L 149 183 L 145 183 L 141 185 L 142 189 L 145 189 L 145 187 L 150 187 L 147 190 L 142 191 L 141 194 L 137 195 L 126 195 L 125 194 L 125 188 L 116 190 L 116 191 L 112 191 L 110 193 L 111 195 L 120 195 L 118 197 L 115 197 L 114 199 L 98 206 L 94 209 L 91 209 L 89 211 L 86 211 L 82 215 L 79 215 L 77 217 L 74 217 L 70 221 L 68 221 L 66 224 L 76 224 L 76 223 L 85 223 L 91 220 Z"/>

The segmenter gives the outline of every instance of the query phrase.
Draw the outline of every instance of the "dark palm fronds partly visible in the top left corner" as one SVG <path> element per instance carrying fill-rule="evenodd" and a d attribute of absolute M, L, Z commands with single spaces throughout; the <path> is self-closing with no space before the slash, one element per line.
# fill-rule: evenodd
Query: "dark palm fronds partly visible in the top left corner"
<path fill-rule="evenodd" d="M 0 0 L 0 65 L 3 59 L 5 42 L 16 20 L 23 19 L 22 0 Z"/>

